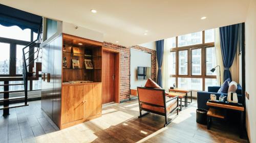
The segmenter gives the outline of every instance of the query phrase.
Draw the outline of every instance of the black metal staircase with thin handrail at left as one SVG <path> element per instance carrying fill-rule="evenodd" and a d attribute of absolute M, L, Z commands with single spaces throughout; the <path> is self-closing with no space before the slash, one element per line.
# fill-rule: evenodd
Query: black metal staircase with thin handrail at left
<path fill-rule="evenodd" d="M 3 109 L 3 116 L 9 115 L 10 108 L 28 106 L 28 81 L 38 80 L 40 77 L 39 71 L 41 71 L 41 63 L 38 62 L 38 54 L 40 51 L 40 44 L 42 41 L 42 20 L 38 30 L 37 39 L 23 48 L 23 76 L 13 76 L 13 77 L 0 77 L 4 84 L 0 84 L 0 87 L 4 87 L 4 91 L 0 94 L 4 94 L 4 98 L 0 98 L 0 102 L 3 105 L 0 109 Z M 36 50 L 35 50 L 36 49 Z M 34 64 L 35 63 L 35 64 Z M 33 68 L 35 67 L 35 71 Z M 9 84 L 9 81 L 23 81 L 23 83 Z M 10 86 L 24 85 L 24 90 L 22 91 L 9 91 Z M 9 97 L 10 93 L 25 93 L 25 96 L 19 97 Z M 10 101 L 21 100 L 23 103 L 12 104 Z"/>

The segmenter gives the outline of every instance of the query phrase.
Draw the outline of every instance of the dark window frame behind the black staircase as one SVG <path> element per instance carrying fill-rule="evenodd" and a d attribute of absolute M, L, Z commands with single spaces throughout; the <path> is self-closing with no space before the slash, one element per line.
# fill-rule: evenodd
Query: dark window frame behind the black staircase
<path fill-rule="evenodd" d="M 17 39 L 10 39 L 10 38 L 4 38 L 0 37 L 1 43 L 7 43 L 10 44 L 10 65 L 9 65 L 9 74 L 0 74 L 0 77 L 17 77 L 22 76 L 22 74 L 16 74 L 16 49 L 17 45 L 28 45 L 30 42 L 34 41 L 34 33 L 33 31 L 30 31 L 30 41 L 23 41 L 23 40 L 17 40 Z M 29 47 L 31 49 L 32 47 Z M 33 50 L 29 52 L 29 55 L 33 54 Z M 35 56 L 35 55 L 34 55 Z M 32 61 L 34 59 L 34 56 L 31 56 L 29 61 Z M 34 66 L 34 63 L 29 66 L 29 71 L 32 71 Z M 29 87 L 28 91 L 40 91 L 40 90 L 33 90 L 33 81 L 29 80 Z"/>

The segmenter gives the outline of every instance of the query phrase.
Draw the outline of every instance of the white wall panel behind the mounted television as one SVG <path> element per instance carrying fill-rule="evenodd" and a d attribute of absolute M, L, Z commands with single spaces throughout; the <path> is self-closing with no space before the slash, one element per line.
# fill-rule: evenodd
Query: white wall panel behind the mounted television
<path fill-rule="evenodd" d="M 151 67 L 151 54 L 131 49 L 131 89 L 144 87 L 146 80 L 137 80 L 137 67 Z"/>

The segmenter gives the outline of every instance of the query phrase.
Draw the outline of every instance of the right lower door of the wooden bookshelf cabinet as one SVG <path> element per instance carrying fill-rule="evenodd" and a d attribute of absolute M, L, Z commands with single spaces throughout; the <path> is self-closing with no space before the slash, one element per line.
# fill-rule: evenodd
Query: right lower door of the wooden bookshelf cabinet
<path fill-rule="evenodd" d="M 84 101 L 86 109 L 84 118 L 99 115 L 101 113 L 102 84 L 89 84 L 84 86 Z"/>

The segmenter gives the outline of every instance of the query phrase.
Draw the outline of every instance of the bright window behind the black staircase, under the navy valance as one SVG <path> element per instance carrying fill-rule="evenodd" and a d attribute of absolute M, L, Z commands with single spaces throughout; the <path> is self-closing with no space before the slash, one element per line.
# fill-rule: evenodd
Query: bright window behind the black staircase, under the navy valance
<path fill-rule="evenodd" d="M 20 76 L 23 74 L 23 48 L 30 42 L 36 40 L 37 33 L 30 29 L 22 30 L 18 26 L 0 25 L 0 75 L 1 76 Z M 29 49 L 27 49 L 28 51 Z M 25 51 L 25 52 L 27 52 Z M 31 52 L 33 53 L 33 52 Z M 28 58 L 31 53 L 26 55 Z M 31 56 L 32 57 L 32 56 Z M 39 59 L 39 62 L 40 59 Z M 10 81 L 9 83 L 23 83 L 22 81 Z M 28 90 L 39 90 L 40 81 L 28 82 Z M 31 86 L 30 86 L 31 85 Z M 3 88 L 3 87 L 2 87 Z M 0 87 L 0 90 L 3 90 Z M 24 85 L 9 87 L 12 90 L 24 90 Z"/>

